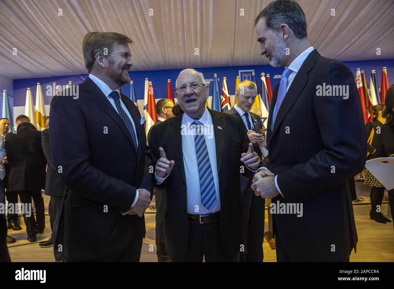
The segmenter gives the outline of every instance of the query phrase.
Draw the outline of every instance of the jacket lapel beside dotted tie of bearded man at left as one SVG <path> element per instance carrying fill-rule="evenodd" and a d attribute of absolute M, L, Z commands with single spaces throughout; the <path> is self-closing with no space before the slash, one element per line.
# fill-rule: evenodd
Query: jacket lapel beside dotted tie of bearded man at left
<path fill-rule="evenodd" d="M 87 94 L 87 96 L 91 100 L 93 100 L 102 110 L 104 110 L 104 112 L 106 112 L 106 114 L 108 114 L 108 116 L 110 116 L 110 118 L 112 118 L 113 121 L 115 121 L 115 123 L 119 126 L 121 131 L 125 134 L 126 138 L 128 139 L 128 142 L 130 143 L 134 153 L 136 155 L 138 155 L 138 153 L 136 151 L 137 148 L 134 146 L 134 142 L 133 142 L 130 132 L 128 131 L 125 123 L 123 122 L 122 118 L 119 116 L 117 111 L 113 108 L 113 106 L 108 101 L 108 99 L 106 99 L 106 96 L 102 93 L 100 88 L 89 77 L 87 77 L 87 79 L 85 79 L 84 83 L 85 83 L 85 90 L 87 92 L 89 92 L 89 94 Z M 130 114 L 131 114 L 131 112 L 130 112 Z M 133 120 L 134 120 L 134 118 L 133 118 Z M 134 120 L 134 123 L 136 123 L 135 120 Z M 137 123 L 139 123 L 139 122 L 137 122 Z M 137 124 L 136 124 L 136 127 L 137 127 Z"/>

